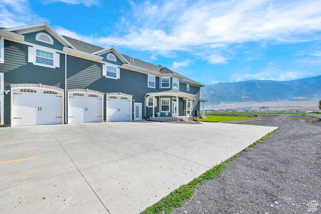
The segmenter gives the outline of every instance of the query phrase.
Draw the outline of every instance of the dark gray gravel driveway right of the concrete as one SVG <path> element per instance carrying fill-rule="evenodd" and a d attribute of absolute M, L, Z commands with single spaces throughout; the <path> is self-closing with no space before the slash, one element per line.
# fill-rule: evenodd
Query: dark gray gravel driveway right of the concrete
<path fill-rule="evenodd" d="M 260 115 L 261 116 L 261 115 Z M 310 122 L 308 122 L 310 121 Z M 197 189 L 172 213 L 321 213 L 321 122 L 301 115 L 269 115 L 229 123 L 278 126 L 267 140 L 240 152 L 218 178 Z"/>

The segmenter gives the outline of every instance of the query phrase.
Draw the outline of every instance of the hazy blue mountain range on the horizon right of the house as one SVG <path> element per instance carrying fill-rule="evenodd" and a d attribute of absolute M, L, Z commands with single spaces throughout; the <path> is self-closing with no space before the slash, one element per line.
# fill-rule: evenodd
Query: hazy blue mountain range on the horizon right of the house
<path fill-rule="evenodd" d="M 208 104 L 309 101 L 320 98 L 321 75 L 288 81 L 248 80 L 235 83 L 203 84 L 201 98 Z"/>

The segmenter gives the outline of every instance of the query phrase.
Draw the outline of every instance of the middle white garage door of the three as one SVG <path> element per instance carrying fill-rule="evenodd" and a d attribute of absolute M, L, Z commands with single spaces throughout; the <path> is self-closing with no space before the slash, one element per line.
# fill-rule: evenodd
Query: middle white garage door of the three
<path fill-rule="evenodd" d="M 101 122 L 101 101 L 96 94 L 69 94 L 68 123 Z"/>

